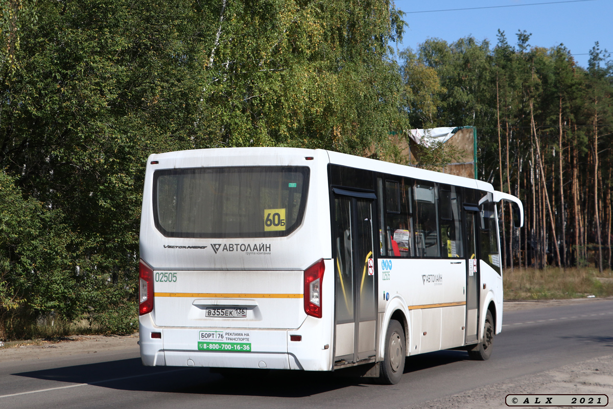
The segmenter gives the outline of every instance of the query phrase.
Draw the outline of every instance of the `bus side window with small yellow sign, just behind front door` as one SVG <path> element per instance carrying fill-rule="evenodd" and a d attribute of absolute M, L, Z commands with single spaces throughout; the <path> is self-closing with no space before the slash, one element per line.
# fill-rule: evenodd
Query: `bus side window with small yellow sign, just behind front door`
<path fill-rule="evenodd" d="M 441 256 L 443 258 L 462 258 L 464 255 L 459 190 L 460 188 L 456 186 L 440 185 Z"/>

